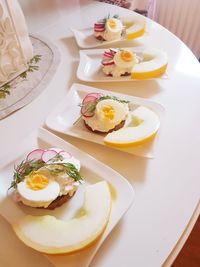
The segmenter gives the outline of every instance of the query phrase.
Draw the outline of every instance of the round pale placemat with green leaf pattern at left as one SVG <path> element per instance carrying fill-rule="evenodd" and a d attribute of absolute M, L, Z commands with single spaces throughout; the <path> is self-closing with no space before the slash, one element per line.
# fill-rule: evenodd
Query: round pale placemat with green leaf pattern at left
<path fill-rule="evenodd" d="M 47 88 L 60 63 L 60 54 L 56 46 L 43 37 L 31 35 L 30 38 L 34 58 L 29 62 L 26 74 L 8 83 L 8 93 L 0 90 L 0 119 L 27 105 Z"/>

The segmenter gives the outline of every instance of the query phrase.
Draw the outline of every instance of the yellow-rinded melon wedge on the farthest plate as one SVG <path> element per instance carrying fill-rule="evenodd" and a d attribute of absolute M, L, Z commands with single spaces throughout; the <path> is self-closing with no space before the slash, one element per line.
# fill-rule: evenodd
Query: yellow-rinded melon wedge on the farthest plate
<path fill-rule="evenodd" d="M 140 15 L 129 15 L 121 18 L 122 24 L 126 29 L 128 40 L 142 36 L 146 29 L 146 19 Z"/>

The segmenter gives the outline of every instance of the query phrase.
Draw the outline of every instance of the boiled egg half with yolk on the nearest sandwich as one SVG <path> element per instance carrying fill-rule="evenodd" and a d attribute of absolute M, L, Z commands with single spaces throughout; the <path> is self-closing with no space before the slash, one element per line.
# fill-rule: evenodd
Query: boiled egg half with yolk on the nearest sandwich
<path fill-rule="evenodd" d="M 47 207 L 60 193 L 60 185 L 49 172 L 35 171 L 17 185 L 21 201 L 31 207 Z"/>

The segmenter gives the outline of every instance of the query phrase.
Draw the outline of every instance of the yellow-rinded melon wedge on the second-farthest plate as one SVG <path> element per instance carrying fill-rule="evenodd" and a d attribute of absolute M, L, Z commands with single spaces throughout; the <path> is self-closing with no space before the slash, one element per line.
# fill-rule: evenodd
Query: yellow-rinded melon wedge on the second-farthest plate
<path fill-rule="evenodd" d="M 147 49 L 142 53 L 143 60 L 133 66 L 132 79 L 150 79 L 159 77 L 167 68 L 168 58 L 159 49 Z"/>

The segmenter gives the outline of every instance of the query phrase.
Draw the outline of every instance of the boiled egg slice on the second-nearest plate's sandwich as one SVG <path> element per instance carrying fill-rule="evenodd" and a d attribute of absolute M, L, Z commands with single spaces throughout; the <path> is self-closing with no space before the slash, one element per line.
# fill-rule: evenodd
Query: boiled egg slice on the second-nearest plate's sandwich
<path fill-rule="evenodd" d="M 97 104 L 96 114 L 100 121 L 107 121 L 117 125 L 126 118 L 128 107 L 116 100 L 105 99 Z"/>

